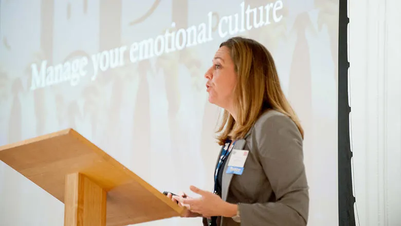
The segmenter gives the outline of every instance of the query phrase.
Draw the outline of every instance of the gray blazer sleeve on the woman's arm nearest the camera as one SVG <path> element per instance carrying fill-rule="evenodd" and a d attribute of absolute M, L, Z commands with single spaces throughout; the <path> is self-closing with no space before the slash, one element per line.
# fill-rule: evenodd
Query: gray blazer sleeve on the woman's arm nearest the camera
<path fill-rule="evenodd" d="M 251 136 L 276 201 L 239 203 L 241 225 L 306 225 L 309 194 L 298 127 L 287 116 L 274 115 L 257 123 Z"/>

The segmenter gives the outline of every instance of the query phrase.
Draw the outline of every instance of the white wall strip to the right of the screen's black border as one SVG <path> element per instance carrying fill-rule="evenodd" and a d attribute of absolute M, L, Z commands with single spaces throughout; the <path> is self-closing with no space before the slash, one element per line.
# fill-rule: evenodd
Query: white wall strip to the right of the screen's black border
<path fill-rule="evenodd" d="M 349 2 L 351 128 L 360 225 L 401 225 L 401 1 Z"/>

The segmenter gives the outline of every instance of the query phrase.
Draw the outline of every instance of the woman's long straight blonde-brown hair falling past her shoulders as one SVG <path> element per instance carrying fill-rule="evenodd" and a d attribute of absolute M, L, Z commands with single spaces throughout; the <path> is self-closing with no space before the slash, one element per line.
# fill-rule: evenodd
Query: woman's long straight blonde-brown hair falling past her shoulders
<path fill-rule="evenodd" d="M 230 49 L 237 83 L 234 88 L 236 121 L 224 110 L 217 129 L 218 144 L 227 139 L 244 138 L 258 118 L 267 110 L 274 109 L 288 116 L 297 125 L 302 138 L 303 129 L 295 111 L 287 101 L 280 85 L 274 59 L 259 42 L 244 37 L 232 37 L 220 47 Z"/>

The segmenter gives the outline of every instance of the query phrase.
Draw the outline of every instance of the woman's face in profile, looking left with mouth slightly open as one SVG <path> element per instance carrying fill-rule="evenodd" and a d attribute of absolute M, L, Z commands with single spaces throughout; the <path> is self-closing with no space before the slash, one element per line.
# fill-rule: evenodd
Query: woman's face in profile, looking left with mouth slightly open
<path fill-rule="evenodd" d="M 219 48 L 212 62 L 212 67 L 205 74 L 209 102 L 230 111 L 233 107 L 236 73 L 229 48 Z"/>

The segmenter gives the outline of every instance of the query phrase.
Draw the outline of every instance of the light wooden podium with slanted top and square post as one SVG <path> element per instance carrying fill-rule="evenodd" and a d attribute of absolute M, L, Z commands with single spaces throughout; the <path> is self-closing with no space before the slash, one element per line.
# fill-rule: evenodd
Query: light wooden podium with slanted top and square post
<path fill-rule="evenodd" d="M 64 225 L 127 225 L 184 208 L 74 129 L 0 147 L 0 160 L 65 204 Z"/>

